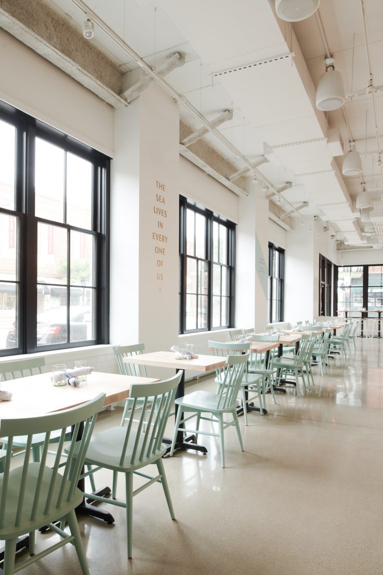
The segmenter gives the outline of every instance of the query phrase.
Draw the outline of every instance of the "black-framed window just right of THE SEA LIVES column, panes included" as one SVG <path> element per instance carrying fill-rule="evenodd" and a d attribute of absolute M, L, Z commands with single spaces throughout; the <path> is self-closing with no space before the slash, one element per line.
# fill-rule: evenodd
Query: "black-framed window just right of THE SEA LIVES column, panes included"
<path fill-rule="evenodd" d="M 234 325 L 235 225 L 180 198 L 180 333 Z"/>

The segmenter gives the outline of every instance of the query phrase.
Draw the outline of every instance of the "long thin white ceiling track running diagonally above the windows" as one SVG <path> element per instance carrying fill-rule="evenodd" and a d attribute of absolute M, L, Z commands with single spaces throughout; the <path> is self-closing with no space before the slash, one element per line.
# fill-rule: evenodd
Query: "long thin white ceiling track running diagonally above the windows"
<path fill-rule="evenodd" d="M 145 70 L 145 72 L 148 72 L 148 74 L 150 76 L 152 76 L 152 78 L 160 86 L 162 86 L 163 89 L 165 91 L 167 91 L 167 93 L 169 95 L 171 95 L 171 97 L 174 98 L 176 102 L 178 102 L 181 106 L 183 106 L 183 108 L 185 108 L 190 114 L 192 114 L 192 116 L 194 116 L 196 118 L 196 120 L 198 120 L 205 128 L 207 128 L 208 132 L 210 132 L 212 135 L 214 135 L 223 145 L 225 145 L 226 148 L 228 150 L 230 150 L 236 158 L 238 158 L 245 166 L 247 166 L 249 168 L 249 171 L 253 171 L 253 173 L 257 175 L 258 179 L 260 179 L 261 182 L 265 183 L 265 185 L 268 186 L 270 190 L 275 191 L 273 184 L 271 182 L 269 182 L 269 180 L 267 178 L 265 178 L 265 176 L 263 174 L 261 174 L 260 171 L 258 171 L 256 168 L 252 167 L 252 163 L 249 162 L 249 160 L 246 158 L 246 156 L 241 154 L 241 152 L 239 152 L 239 150 L 237 150 L 237 148 L 235 148 L 235 146 L 233 144 L 231 144 L 231 142 L 229 140 L 227 140 L 225 138 L 225 136 L 223 136 L 220 132 L 218 132 L 218 130 L 216 130 L 215 128 L 211 128 L 208 120 L 204 116 L 202 116 L 202 114 L 200 114 L 198 112 L 198 110 L 196 108 L 194 108 L 194 106 L 192 106 L 187 101 L 186 98 L 184 98 L 183 96 L 178 94 L 176 92 L 176 90 L 173 90 L 173 88 L 171 86 L 169 86 L 169 84 L 167 82 L 165 82 L 162 78 L 158 78 L 157 74 L 152 70 L 152 68 L 150 68 L 150 66 L 148 64 L 146 64 L 145 60 L 143 60 L 141 58 L 141 56 L 138 56 L 138 54 L 136 52 L 134 52 L 133 48 L 130 48 L 130 46 L 127 45 L 118 36 L 118 34 L 113 32 L 113 30 L 111 28 L 109 28 L 109 26 L 107 26 L 105 24 L 105 22 L 103 20 L 101 20 L 101 18 L 96 16 L 96 14 L 84 2 L 82 2 L 82 0 L 71 0 L 71 2 L 75 6 L 77 6 L 80 10 L 82 10 L 84 14 L 88 14 L 88 18 L 91 18 L 91 20 L 92 20 L 92 22 L 94 22 L 94 24 L 96 24 L 107 36 L 109 36 L 109 38 L 111 40 L 113 40 L 120 48 L 122 48 L 123 51 L 126 52 L 127 55 L 134 62 L 136 62 L 136 64 L 138 64 L 138 66 L 140 66 L 142 68 L 142 70 Z M 243 195 L 247 196 L 247 194 L 245 192 L 243 192 Z M 285 204 L 288 204 L 291 207 L 291 209 L 294 212 L 296 212 L 294 206 L 292 204 L 290 204 L 288 201 L 285 200 Z M 296 212 L 296 213 L 300 216 L 299 212 Z"/>

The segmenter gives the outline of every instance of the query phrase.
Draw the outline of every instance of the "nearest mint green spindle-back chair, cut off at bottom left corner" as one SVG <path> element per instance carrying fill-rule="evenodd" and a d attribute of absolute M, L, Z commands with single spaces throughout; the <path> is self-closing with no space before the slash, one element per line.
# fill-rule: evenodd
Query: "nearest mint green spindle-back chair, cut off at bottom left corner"
<path fill-rule="evenodd" d="M 72 543 L 83 575 L 89 575 L 75 513 L 75 508 L 83 501 L 83 494 L 77 484 L 96 416 L 104 400 L 105 393 L 102 393 L 83 405 L 65 411 L 0 421 L 0 433 L 9 437 L 4 470 L 0 475 L 0 539 L 5 541 L 4 574 L 11 575 L 67 543 Z M 70 425 L 73 425 L 73 435 L 71 443 L 67 446 L 68 456 L 64 458 L 64 463 L 61 463 L 66 431 Z M 82 437 L 76 441 L 82 427 Z M 53 431 L 59 432 L 60 440 L 57 443 L 57 454 L 52 461 L 48 460 L 47 456 Z M 28 439 L 22 464 L 15 467 L 11 464 L 12 439 L 20 433 Z M 32 442 L 36 435 L 44 435 L 41 461 L 31 462 Z M 73 458 L 75 450 L 76 458 Z M 69 533 L 56 526 L 55 522 L 60 520 L 61 524 L 65 521 L 68 523 Z M 53 545 L 34 554 L 35 532 L 44 526 L 49 526 L 62 539 L 59 542 L 55 539 Z M 31 557 L 18 563 L 15 568 L 17 538 L 28 533 Z M 46 568 L 49 570 L 49 562 Z"/>

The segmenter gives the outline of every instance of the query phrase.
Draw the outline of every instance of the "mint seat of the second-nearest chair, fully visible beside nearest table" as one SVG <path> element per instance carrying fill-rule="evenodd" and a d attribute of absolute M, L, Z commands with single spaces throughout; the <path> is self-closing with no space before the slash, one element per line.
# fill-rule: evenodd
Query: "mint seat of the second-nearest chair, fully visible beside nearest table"
<path fill-rule="evenodd" d="M 144 450 L 145 453 L 141 458 L 136 457 L 136 462 L 133 465 L 130 460 L 136 437 L 137 432 L 132 430 L 129 434 L 125 459 L 123 464 L 120 465 L 121 453 L 126 439 L 126 428 L 119 425 L 118 427 L 111 427 L 108 430 L 93 435 L 87 450 L 85 463 L 87 463 L 87 465 L 97 465 L 106 467 L 106 469 L 127 473 L 140 469 L 140 467 L 144 467 L 145 465 L 150 465 L 150 463 L 157 461 L 159 457 L 165 454 L 168 446 L 164 443 L 160 444 L 160 447 L 154 454 L 152 451 L 150 451 L 150 454 L 147 454 L 148 446 L 146 446 L 146 451 Z M 137 454 L 140 453 L 144 440 L 145 434 L 141 433 L 138 437 Z"/>

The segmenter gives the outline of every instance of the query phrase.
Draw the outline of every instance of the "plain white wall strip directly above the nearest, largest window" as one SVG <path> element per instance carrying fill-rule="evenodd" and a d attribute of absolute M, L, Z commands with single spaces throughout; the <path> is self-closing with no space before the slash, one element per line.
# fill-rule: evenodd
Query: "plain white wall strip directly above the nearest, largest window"
<path fill-rule="evenodd" d="M 113 156 L 114 109 L 1 29 L 0 99 Z"/>

